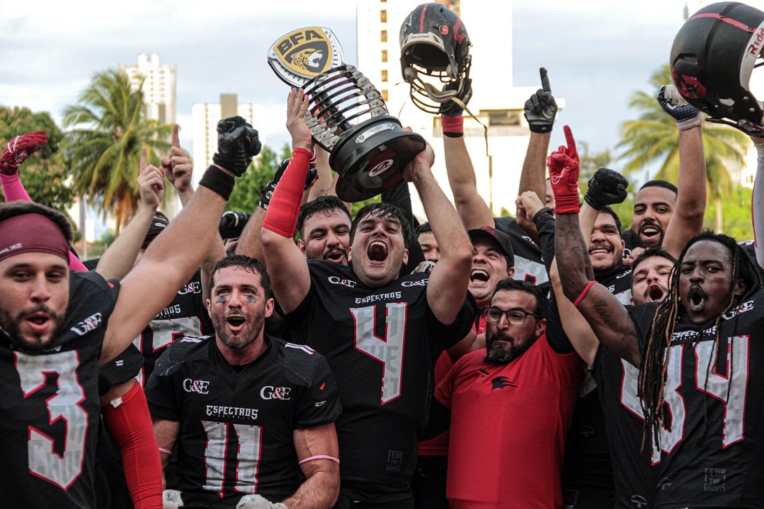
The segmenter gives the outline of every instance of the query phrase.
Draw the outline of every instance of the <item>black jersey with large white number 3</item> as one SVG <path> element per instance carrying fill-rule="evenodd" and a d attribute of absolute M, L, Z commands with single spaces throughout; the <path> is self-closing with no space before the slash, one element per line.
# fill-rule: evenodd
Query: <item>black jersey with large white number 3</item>
<path fill-rule="evenodd" d="M 94 507 L 101 406 L 98 362 L 116 281 L 70 272 L 70 297 L 50 349 L 21 352 L 0 329 L 0 500 L 3 507 Z"/>

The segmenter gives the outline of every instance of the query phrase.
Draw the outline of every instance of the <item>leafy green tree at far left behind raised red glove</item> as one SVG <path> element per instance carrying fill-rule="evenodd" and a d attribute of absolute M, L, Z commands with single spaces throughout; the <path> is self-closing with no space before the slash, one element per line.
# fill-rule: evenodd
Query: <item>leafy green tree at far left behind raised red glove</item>
<path fill-rule="evenodd" d="M 29 131 L 47 131 L 48 142 L 18 169 L 21 183 L 35 202 L 66 212 L 72 206 L 73 193 L 66 179 L 69 171 L 59 151 L 63 140 L 60 128 L 47 112 L 0 106 L 0 147 Z"/>

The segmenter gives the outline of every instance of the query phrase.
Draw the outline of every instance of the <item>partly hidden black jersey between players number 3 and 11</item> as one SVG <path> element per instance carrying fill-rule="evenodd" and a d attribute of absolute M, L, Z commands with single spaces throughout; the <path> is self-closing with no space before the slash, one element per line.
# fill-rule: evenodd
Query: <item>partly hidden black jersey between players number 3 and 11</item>
<path fill-rule="evenodd" d="M 144 368 L 138 381 L 144 384 L 154 371 L 154 364 L 164 349 L 183 337 L 198 337 L 212 333 L 212 321 L 202 298 L 201 271 L 175 294 L 173 301 L 157 313 L 133 344 L 144 356 Z"/>

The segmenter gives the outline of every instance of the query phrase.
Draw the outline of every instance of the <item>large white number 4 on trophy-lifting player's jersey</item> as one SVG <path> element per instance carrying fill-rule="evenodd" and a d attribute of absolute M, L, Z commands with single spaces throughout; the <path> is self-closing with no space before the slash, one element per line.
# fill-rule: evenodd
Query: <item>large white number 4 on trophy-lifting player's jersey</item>
<path fill-rule="evenodd" d="M 385 337 L 374 334 L 377 306 L 353 307 L 355 349 L 382 363 L 382 404 L 400 397 L 406 345 L 405 302 L 385 304 Z"/>

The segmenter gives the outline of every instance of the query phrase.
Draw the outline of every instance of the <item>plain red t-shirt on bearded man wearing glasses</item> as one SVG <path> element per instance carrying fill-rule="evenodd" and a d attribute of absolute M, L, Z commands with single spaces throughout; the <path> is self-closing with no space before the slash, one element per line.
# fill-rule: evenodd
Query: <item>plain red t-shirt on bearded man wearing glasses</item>
<path fill-rule="evenodd" d="M 543 334 L 506 365 L 460 358 L 435 397 L 451 409 L 446 496 L 452 509 L 562 507 L 565 435 L 581 358 Z"/>

